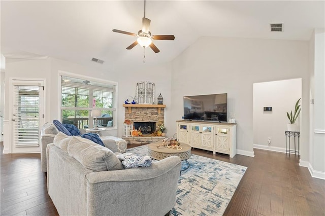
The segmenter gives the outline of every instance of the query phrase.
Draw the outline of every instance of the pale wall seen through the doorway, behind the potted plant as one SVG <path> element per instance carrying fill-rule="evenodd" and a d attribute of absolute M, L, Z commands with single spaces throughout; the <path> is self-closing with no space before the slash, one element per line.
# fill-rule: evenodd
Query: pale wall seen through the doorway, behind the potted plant
<path fill-rule="evenodd" d="M 286 112 L 294 112 L 301 97 L 301 78 L 253 84 L 253 148 L 285 153 Z M 299 128 L 301 115 L 296 121 Z"/>

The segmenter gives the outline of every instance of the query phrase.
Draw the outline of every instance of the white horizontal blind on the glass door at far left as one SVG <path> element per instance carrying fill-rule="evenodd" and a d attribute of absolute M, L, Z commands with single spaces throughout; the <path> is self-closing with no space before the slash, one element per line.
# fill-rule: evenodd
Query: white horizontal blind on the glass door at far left
<path fill-rule="evenodd" d="M 15 146 L 39 145 L 39 86 L 13 86 L 13 139 Z M 43 89 L 42 89 L 43 90 Z"/>

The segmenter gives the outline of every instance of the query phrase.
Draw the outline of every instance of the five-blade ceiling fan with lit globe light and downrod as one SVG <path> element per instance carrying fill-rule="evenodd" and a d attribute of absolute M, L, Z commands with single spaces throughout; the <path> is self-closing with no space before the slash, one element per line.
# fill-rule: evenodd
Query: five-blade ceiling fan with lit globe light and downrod
<path fill-rule="evenodd" d="M 170 40 L 173 41 L 175 39 L 174 35 L 151 35 L 149 31 L 150 27 L 150 19 L 146 18 L 146 0 L 144 0 L 144 17 L 142 18 L 142 29 L 138 31 L 138 34 L 131 33 L 127 31 L 122 31 L 118 29 L 113 29 L 113 32 L 122 33 L 132 35 L 134 37 L 138 37 L 137 41 L 135 41 L 130 46 L 126 47 L 127 50 L 131 50 L 138 44 L 143 47 L 150 47 L 153 52 L 158 53 L 160 50 L 152 43 L 151 40 Z"/>

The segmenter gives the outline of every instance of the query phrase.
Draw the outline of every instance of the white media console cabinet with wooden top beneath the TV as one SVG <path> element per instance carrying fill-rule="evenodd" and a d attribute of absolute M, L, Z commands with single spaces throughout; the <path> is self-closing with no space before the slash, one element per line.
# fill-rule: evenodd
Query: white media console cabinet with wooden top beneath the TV
<path fill-rule="evenodd" d="M 177 139 L 192 148 L 236 155 L 236 123 L 176 121 Z"/>

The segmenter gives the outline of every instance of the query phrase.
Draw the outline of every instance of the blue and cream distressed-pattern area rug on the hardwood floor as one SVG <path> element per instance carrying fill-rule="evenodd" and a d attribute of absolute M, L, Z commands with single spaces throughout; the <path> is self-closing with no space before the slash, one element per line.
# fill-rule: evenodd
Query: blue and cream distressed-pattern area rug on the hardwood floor
<path fill-rule="evenodd" d="M 147 151 L 147 146 L 126 150 L 139 156 Z M 222 215 L 247 167 L 198 155 L 187 161 L 190 166 L 179 176 L 176 205 L 170 215 Z"/>

